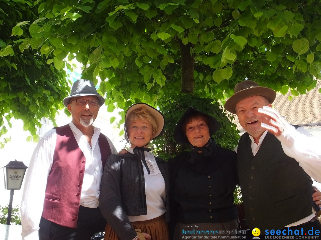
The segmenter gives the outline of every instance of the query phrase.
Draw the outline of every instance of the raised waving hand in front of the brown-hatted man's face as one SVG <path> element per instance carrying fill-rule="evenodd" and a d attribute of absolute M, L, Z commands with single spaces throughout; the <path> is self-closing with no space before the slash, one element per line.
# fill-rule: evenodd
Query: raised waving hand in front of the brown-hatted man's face
<path fill-rule="evenodd" d="M 263 108 L 258 109 L 257 118 L 261 122 L 261 126 L 275 136 L 281 135 L 289 125 L 277 110 L 268 106 L 263 106 Z"/>

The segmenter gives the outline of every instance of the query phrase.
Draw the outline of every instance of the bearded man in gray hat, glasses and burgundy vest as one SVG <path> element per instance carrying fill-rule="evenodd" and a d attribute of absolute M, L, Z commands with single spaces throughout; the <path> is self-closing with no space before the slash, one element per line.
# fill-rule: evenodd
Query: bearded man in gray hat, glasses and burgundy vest
<path fill-rule="evenodd" d="M 25 240 L 90 240 L 105 229 L 99 210 L 106 159 L 117 151 L 92 124 L 105 100 L 89 80 L 74 82 L 63 101 L 71 123 L 40 140 L 26 173 L 21 204 Z"/>

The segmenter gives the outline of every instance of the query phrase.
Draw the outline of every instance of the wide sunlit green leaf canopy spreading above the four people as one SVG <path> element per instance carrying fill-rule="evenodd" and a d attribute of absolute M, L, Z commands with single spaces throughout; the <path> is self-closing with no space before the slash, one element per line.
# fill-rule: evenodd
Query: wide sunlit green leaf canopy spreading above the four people
<path fill-rule="evenodd" d="M 68 64 L 66 57 L 81 62 L 82 78 L 102 80 L 99 91 L 110 112 L 135 101 L 162 110 L 179 93 L 224 102 L 244 79 L 297 96 L 316 86 L 312 76 L 320 78 L 317 0 L 37 0 L 33 5 L 37 19 L 24 18 L 12 29 L 20 36 L 20 50 L 38 51 L 46 66 L 57 70 Z M 11 45 L 2 45 L 0 56 L 12 52 Z"/>

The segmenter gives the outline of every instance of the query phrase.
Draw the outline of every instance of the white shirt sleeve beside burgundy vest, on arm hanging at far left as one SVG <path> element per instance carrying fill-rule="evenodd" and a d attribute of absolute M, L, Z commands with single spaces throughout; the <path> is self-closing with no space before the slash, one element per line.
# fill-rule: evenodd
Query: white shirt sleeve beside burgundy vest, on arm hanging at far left
<path fill-rule="evenodd" d="M 39 222 L 55 146 L 56 130 L 53 129 L 40 139 L 32 154 L 25 176 L 20 209 L 23 240 L 39 239 Z"/>

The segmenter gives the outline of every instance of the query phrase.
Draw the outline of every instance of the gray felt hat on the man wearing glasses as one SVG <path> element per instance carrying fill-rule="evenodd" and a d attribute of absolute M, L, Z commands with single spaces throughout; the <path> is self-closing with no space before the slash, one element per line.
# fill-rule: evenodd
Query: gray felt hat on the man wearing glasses
<path fill-rule="evenodd" d="M 105 99 L 98 94 L 93 82 L 87 79 L 80 79 L 74 82 L 69 97 L 64 98 L 65 107 L 68 106 L 71 98 L 82 96 L 96 96 L 98 98 L 99 106 L 102 106 L 105 103 Z"/>

